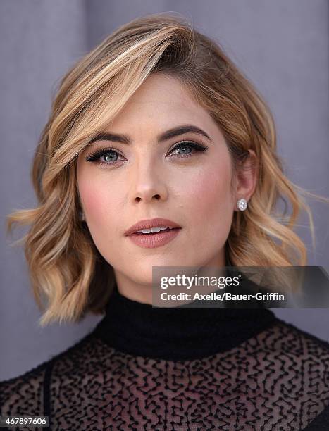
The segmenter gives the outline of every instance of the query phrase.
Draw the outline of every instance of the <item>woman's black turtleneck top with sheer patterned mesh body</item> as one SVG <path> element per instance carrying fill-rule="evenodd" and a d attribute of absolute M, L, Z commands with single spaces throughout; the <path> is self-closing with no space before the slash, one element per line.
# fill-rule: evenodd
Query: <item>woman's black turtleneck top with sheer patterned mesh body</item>
<path fill-rule="evenodd" d="M 0 406 L 51 430 L 328 431 L 329 344 L 266 308 L 153 308 L 115 288 L 89 335 L 0 383 Z"/>

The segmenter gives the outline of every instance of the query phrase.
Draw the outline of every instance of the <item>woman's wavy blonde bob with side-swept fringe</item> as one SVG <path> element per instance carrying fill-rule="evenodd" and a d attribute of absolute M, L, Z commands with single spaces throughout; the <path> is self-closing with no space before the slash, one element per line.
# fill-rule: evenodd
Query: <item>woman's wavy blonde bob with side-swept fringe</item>
<path fill-rule="evenodd" d="M 37 208 L 7 216 L 7 232 L 13 223 L 30 225 L 18 242 L 25 244 L 42 326 L 104 313 L 113 267 L 78 217 L 77 156 L 154 72 L 177 77 L 209 112 L 223 132 L 233 172 L 249 149 L 256 153 L 256 190 L 247 211 L 234 212 L 225 243 L 230 265 L 306 265 L 306 246 L 292 229 L 304 208 L 315 244 L 311 209 L 299 192 L 317 195 L 284 175 L 268 106 L 216 42 L 175 13 L 147 15 L 119 27 L 63 77 L 32 165 Z M 283 213 L 275 211 L 278 199 Z"/>

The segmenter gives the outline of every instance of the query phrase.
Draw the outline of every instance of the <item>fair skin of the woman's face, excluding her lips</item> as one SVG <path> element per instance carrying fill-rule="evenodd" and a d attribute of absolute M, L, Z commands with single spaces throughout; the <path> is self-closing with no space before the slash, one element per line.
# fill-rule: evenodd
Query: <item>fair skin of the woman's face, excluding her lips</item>
<path fill-rule="evenodd" d="M 187 125 L 204 133 L 158 139 Z M 152 266 L 225 266 L 236 200 L 245 196 L 232 193 L 228 147 L 209 113 L 175 77 L 156 73 L 104 132 L 125 135 L 130 144 L 119 139 L 89 144 L 78 158 L 77 182 L 89 232 L 121 291 L 151 285 Z M 204 151 L 198 151 L 200 145 Z M 109 146 L 96 161 L 86 160 Z M 181 228 L 156 247 L 125 235 L 139 220 L 153 218 Z"/>

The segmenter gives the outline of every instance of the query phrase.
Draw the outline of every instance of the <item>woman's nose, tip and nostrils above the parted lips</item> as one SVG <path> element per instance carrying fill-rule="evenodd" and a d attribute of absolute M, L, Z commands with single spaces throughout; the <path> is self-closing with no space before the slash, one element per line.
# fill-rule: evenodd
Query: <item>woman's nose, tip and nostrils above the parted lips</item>
<path fill-rule="evenodd" d="M 166 175 L 159 165 L 151 163 L 137 163 L 132 175 L 132 201 L 135 203 L 151 201 L 166 201 L 168 189 Z"/>

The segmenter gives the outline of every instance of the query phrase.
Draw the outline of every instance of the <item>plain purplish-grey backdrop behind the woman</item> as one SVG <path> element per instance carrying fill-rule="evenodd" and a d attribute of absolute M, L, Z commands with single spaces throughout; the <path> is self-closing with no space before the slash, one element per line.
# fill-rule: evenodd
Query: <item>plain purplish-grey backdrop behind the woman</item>
<path fill-rule="evenodd" d="M 58 80 L 77 58 L 119 25 L 148 13 L 177 11 L 215 38 L 270 105 L 278 151 L 297 185 L 329 196 L 329 35 L 326 0 L 1 0 L 1 366 L 15 377 L 71 346 L 101 316 L 80 325 L 37 326 L 27 265 L 5 236 L 5 216 L 34 206 L 30 166 Z M 316 251 L 309 265 L 329 271 L 329 207 L 310 201 Z M 311 246 L 306 218 L 297 232 Z M 24 229 L 18 229 L 18 239 Z M 311 249 L 310 249 L 311 250 Z M 329 339 L 328 308 L 275 309 L 297 327 Z"/>

